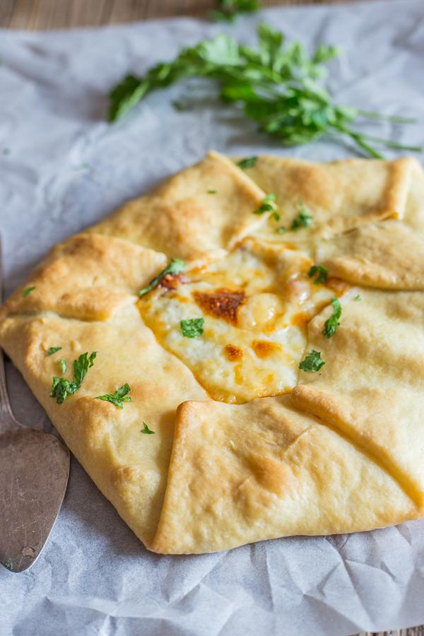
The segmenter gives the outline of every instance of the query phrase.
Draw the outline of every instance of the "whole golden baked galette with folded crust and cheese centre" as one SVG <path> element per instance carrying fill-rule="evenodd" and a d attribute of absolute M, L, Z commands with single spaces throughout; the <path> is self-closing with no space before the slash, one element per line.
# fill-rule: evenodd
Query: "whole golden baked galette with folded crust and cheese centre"
<path fill-rule="evenodd" d="M 424 515 L 422 168 L 241 165 L 209 153 L 57 245 L 0 312 L 1 346 L 159 553 Z"/>

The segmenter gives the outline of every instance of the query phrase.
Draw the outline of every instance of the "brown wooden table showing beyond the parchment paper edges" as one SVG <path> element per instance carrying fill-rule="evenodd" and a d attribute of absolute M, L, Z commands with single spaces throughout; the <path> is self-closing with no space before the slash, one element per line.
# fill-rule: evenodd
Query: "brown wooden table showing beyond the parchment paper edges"
<path fill-rule="evenodd" d="M 262 4 L 293 6 L 324 4 L 324 1 L 336 4 L 346 0 L 262 0 Z M 0 27 L 45 30 L 170 16 L 201 17 L 214 7 L 214 0 L 0 0 Z M 363 632 L 355 636 L 424 636 L 424 625 L 391 632 Z"/>

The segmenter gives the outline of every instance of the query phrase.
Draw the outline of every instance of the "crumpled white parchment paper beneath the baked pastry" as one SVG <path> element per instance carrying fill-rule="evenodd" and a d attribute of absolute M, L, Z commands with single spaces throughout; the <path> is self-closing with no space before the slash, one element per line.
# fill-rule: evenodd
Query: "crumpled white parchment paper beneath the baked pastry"
<path fill-rule="evenodd" d="M 0 220 L 6 293 L 54 243 L 199 160 L 210 148 L 312 160 L 354 153 L 322 141 L 285 150 L 195 83 L 153 93 L 119 124 L 107 92 L 125 73 L 171 59 L 180 45 L 227 30 L 255 42 L 266 19 L 312 47 L 341 44 L 331 64 L 338 102 L 423 117 L 424 2 L 376 0 L 275 8 L 234 27 L 189 18 L 56 33 L 0 30 Z M 364 126 L 424 143 L 424 126 Z M 388 158 L 399 153 L 387 151 Z M 420 157 L 418 157 L 420 158 Z M 51 430 L 8 363 L 16 416 Z M 411 440 L 413 443 L 413 440 Z M 122 636 L 344 636 L 424 623 L 424 520 L 363 534 L 294 537 L 227 553 L 148 553 L 77 461 L 64 505 L 32 569 L 0 568 L 0 633 Z"/>

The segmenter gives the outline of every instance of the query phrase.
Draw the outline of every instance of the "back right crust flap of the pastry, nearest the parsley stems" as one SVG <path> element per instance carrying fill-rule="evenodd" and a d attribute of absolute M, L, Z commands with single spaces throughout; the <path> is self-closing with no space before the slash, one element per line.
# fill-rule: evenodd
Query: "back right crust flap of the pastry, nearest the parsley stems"
<path fill-rule="evenodd" d="M 403 218 L 417 166 L 411 158 L 318 164 L 265 156 L 246 173 L 264 191 L 276 194 L 282 225 L 290 227 L 301 201 L 313 216 L 314 235 L 331 237 L 372 221 Z M 298 232 L 290 240 L 304 240 L 304 236 Z"/>

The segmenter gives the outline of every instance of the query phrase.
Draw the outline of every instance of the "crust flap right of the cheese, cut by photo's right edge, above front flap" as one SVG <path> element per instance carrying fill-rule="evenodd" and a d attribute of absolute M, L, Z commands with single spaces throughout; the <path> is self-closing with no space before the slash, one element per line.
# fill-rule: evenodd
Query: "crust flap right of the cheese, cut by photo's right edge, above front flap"
<path fill-rule="evenodd" d="M 293 406 L 330 423 L 380 461 L 424 503 L 424 295 L 355 290 L 341 299 L 340 326 L 322 334 L 329 308 L 310 322 L 307 349 L 319 373 L 300 372 Z M 413 442 L 412 442 L 413 440 Z"/>

